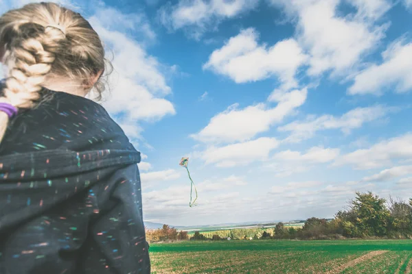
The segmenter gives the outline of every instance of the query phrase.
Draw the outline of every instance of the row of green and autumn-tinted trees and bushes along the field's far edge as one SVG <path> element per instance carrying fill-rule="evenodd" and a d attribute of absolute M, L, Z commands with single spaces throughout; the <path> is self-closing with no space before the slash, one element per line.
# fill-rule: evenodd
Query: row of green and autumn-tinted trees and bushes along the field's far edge
<path fill-rule="evenodd" d="M 258 240 L 297 239 L 321 240 L 341 238 L 412 238 L 412 198 L 383 199 L 372 192 L 356 192 L 346 210 L 340 210 L 328 221 L 312 217 L 303 227 L 287 227 L 277 223 L 275 227 L 262 229 L 230 229 L 218 232 L 178 232 L 163 225 L 161 229 L 148 229 L 149 242 L 174 240 Z"/>

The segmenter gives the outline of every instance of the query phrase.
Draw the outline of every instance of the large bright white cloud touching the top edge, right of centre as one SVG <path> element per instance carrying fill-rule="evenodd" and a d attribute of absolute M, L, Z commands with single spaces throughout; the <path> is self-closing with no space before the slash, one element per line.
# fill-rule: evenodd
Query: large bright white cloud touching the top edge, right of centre
<path fill-rule="evenodd" d="M 347 73 L 376 47 L 387 26 L 376 25 L 371 19 L 386 9 L 383 2 L 351 1 L 360 13 L 343 17 L 336 12 L 339 0 L 271 0 L 297 19 L 297 40 L 310 53 L 309 75 Z"/>

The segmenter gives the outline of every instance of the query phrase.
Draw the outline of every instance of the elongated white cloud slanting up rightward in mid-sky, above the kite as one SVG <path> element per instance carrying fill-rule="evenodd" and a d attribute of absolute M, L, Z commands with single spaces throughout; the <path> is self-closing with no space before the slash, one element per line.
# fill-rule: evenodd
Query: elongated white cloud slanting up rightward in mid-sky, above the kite
<path fill-rule="evenodd" d="M 214 116 L 209 124 L 198 134 L 193 134 L 192 138 L 202 142 L 250 140 L 293 113 L 295 108 L 306 101 L 307 92 L 304 88 L 274 97 L 273 100 L 278 101 L 275 108 L 268 108 L 268 105 L 260 103 L 239 110 L 238 104 L 231 105 L 225 112 Z"/>

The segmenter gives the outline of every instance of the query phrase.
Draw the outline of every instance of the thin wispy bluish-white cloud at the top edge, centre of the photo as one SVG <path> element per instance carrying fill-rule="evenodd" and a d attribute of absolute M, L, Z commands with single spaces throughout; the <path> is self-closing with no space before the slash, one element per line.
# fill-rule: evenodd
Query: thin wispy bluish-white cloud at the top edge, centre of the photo
<path fill-rule="evenodd" d="M 176 5 L 164 5 L 159 10 L 161 23 L 171 30 L 185 29 L 198 39 L 214 30 L 220 21 L 252 10 L 259 0 L 179 0 Z"/>

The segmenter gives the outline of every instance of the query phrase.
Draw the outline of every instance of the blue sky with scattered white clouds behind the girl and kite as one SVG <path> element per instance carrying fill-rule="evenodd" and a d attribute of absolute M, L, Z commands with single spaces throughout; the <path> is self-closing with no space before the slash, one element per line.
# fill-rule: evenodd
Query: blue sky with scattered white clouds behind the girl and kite
<path fill-rule="evenodd" d="M 356 191 L 408 198 L 411 0 L 63 3 L 113 58 L 103 105 L 144 153 L 146 221 L 288 221 L 332 217 Z"/>

